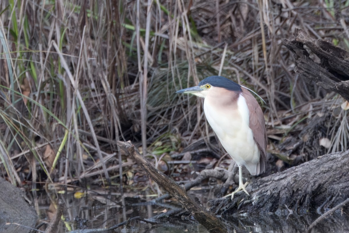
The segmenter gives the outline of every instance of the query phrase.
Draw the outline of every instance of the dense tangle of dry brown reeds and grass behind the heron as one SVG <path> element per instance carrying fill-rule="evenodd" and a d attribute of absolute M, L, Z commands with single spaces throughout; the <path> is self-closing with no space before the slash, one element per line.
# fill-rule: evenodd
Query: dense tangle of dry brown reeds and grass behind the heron
<path fill-rule="evenodd" d="M 267 102 L 269 151 L 281 158 L 291 150 L 284 161 L 314 157 L 279 145 L 299 142 L 315 115 L 327 117 L 316 137 L 331 142 L 324 152 L 347 150 L 342 100 L 298 78 L 281 39 L 301 28 L 348 49 L 348 6 L 348 0 L 1 1 L 2 175 L 19 184 L 108 180 L 122 173 L 117 140 L 161 155 L 206 138 L 212 132 L 201 100 L 174 92 L 217 74 Z"/>

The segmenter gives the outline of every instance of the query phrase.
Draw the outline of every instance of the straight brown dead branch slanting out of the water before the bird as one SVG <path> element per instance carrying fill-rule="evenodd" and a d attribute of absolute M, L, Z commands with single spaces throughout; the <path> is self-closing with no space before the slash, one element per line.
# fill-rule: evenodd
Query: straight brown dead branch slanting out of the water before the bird
<path fill-rule="evenodd" d="M 118 141 L 117 145 L 120 149 L 124 150 L 128 156 L 130 156 L 139 166 L 141 166 L 151 178 L 158 183 L 163 189 L 165 189 L 172 197 L 176 198 L 182 206 L 189 211 L 196 221 L 204 226 L 211 233 L 226 233 L 227 228 L 222 221 L 216 216 L 211 215 L 205 208 L 187 195 L 183 187 L 179 186 L 168 178 L 164 173 L 157 170 L 148 160 L 146 160 L 136 150 L 135 146 L 130 142 Z"/>

